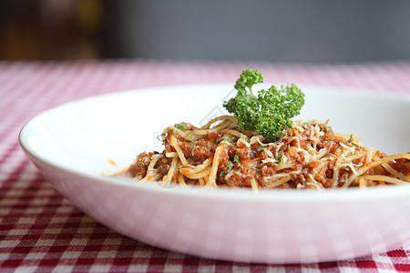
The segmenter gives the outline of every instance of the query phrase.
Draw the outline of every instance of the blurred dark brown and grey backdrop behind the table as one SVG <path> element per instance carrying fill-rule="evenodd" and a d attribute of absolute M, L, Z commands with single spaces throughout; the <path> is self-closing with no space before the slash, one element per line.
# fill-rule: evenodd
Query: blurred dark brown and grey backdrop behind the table
<path fill-rule="evenodd" d="M 0 60 L 410 59 L 410 1 L 1 0 Z"/>

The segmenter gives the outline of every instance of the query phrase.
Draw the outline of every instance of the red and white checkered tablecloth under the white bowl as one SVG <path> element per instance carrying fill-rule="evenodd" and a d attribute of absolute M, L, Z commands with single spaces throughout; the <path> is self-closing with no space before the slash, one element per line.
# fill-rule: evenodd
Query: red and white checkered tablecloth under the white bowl
<path fill-rule="evenodd" d="M 265 82 L 353 86 L 410 95 L 410 61 L 353 65 L 118 60 L 0 62 L 0 272 L 410 271 L 410 242 L 388 253 L 313 264 L 246 264 L 150 247 L 97 223 L 23 155 L 25 122 L 71 100 L 147 86 L 233 83 L 243 68 Z M 410 227 L 409 227 L 410 228 Z"/>

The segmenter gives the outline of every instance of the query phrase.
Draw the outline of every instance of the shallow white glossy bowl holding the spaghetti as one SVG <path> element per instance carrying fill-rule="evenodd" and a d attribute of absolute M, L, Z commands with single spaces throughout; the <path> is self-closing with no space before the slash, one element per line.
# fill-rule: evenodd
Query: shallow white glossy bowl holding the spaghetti
<path fill-rule="evenodd" d="M 410 187 L 327 192 L 180 189 L 103 177 L 140 152 L 162 151 L 158 136 L 181 121 L 223 113 L 231 85 L 168 86 L 95 96 L 50 109 L 23 127 L 20 143 L 38 170 L 107 227 L 159 248 L 242 262 L 353 258 L 410 240 Z M 410 151 L 410 99 L 364 90 L 305 86 L 305 119 L 367 147 Z M 118 163 L 113 167 L 108 159 Z"/>

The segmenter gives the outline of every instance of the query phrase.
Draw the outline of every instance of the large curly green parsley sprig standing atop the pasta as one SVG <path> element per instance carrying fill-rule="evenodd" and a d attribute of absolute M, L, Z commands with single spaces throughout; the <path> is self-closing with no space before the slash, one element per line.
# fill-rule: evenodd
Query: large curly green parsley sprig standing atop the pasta
<path fill-rule="evenodd" d="M 299 115 L 304 104 L 304 94 L 295 85 L 282 86 L 259 91 L 252 94 L 251 87 L 263 82 L 258 70 L 245 69 L 236 81 L 235 97 L 226 101 L 223 106 L 238 118 L 238 126 L 260 133 L 270 141 L 276 141 L 282 135 L 283 127 L 292 126 L 290 120 Z"/>

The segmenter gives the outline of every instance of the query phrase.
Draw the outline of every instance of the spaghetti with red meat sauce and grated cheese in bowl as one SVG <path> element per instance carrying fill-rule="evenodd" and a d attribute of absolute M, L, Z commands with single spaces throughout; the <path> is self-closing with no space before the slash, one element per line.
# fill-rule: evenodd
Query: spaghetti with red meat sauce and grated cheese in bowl
<path fill-rule="evenodd" d="M 270 142 L 241 130 L 235 116 L 202 127 L 167 127 L 165 150 L 143 152 L 128 168 L 141 181 L 181 187 L 345 188 L 410 185 L 410 154 L 386 156 L 328 122 L 293 122 Z"/>

